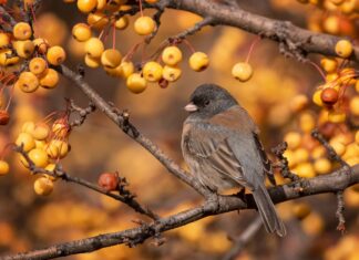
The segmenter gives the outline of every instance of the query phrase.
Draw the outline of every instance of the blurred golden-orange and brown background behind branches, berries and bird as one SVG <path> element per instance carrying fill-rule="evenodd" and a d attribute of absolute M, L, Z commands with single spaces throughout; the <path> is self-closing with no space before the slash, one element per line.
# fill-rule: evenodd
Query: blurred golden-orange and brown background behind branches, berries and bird
<path fill-rule="evenodd" d="M 86 17 L 76 10 L 75 4 L 66 4 L 61 0 L 43 2 L 37 17 L 37 27 L 41 28 L 42 37 L 50 44 L 65 48 L 65 64 L 75 70 L 83 63 L 84 51 L 83 45 L 72 39 L 71 28 L 85 21 Z M 295 0 L 244 0 L 239 3 L 252 12 L 290 20 L 296 25 L 315 31 L 351 38 L 358 35 L 357 20 L 318 6 L 301 4 Z M 151 11 L 145 13 L 153 14 Z M 334 30 L 330 24 L 326 25 L 326 19 L 330 15 L 342 19 L 340 24 L 346 24 L 346 28 L 330 31 Z M 153 53 L 163 40 L 199 20 L 199 17 L 188 12 L 166 10 L 158 34 L 145 52 Z M 123 54 L 142 40 L 132 30 L 133 21 L 134 18 L 130 18 L 129 29 L 116 32 L 116 48 Z M 152 84 L 144 93 L 136 95 L 126 90 L 124 80 L 111 77 L 101 69 L 85 69 L 85 81 L 106 101 L 121 110 L 129 110 L 134 125 L 184 167 L 181 133 L 186 113 L 183 107 L 197 85 L 219 84 L 249 111 L 261 129 L 260 137 L 267 150 L 283 142 L 288 133 L 300 135 L 299 148 L 308 156 L 306 162 L 300 162 L 296 167 L 305 168 L 301 169 L 302 177 L 314 177 L 319 173 L 314 168 L 311 152 L 318 144 L 308 137 L 309 126 L 306 124 L 314 126 L 319 122 L 321 112 L 312 104 L 311 95 L 322 79 L 310 64 L 280 55 L 277 43 L 260 40 L 249 60 L 254 69 L 253 77 L 246 83 L 236 81 L 230 74 L 232 66 L 245 61 L 256 39 L 256 35 L 239 29 L 205 28 L 187 40 L 196 51 L 209 55 L 209 67 L 201 73 L 192 71 L 187 65 L 191 50 L 186 44 L 181 44 L 184 53 L 182 77 L 166 89 Z M 111 46 L 111 40 L 106 44 Z M 141 60 L 139 52 L 134 60 Z M 319 63 L 321 56 L 310 58 Z M 351 87 L 348 95 L 353 95 L 353 92 Z M 308 97 L 305 110 L 298 108 L 301 104 L 299 102 L 298 105 L 298 96 Z M 41 121 L 53 111 L 64 110 L 64 97 L 73 98 L 78 105 L 88 105 L 83 93 L 65 79 L 51 92 L 41 91 L 31 95 L 16 92 L 11 127 L 1 129 L 1 144 L 13 142 L 23 122 Z M 302 123 L 302 117 L 309 117 L 311 123 Z M 202 201 L 195 191 L 166 173 L 155 158 L 100 112 L 91 114 L 83 126 L 75 128 L 69 142 L 71 153 L 61 163 L 72 176 L 96 183 L 102 171 L 119 170 L 129 180 L 130 190 L 137 195 L 137 199 L 161 216 L 195 207 Z M 312 147 L 308 147 L 308 143 Z M 143 218 L 111 198 L 61 180 L 55 183 L 50 196 L 37 196 L 33 191 L 37 177 L 21 166 L 17 156 L 8 157 L 11 160 L 11 174 L 0 179 L 0 253 L 14 253 L 119 231 L 136 227 L 133 220 Z M 284 180 L 278 177 L 278 181 Z M 351 188 L 345 193 L 347 231 L 343 235 L 336 230 L 335 195 L 302 198 L 277 207 L 286 221 L 286 238 L 279 239 L 261 229 L 236 259 L 359 259 L 358 190 Z M 161 247 L 154 246 L 150 239 L 136 248 L 116 246 L 66 259 L 222 259 L 233 247 L 228 237 L 239 236 L 256 216 L 255 211 L 246 210 L 208 217 L 164 233 L 166 242 Z"/>

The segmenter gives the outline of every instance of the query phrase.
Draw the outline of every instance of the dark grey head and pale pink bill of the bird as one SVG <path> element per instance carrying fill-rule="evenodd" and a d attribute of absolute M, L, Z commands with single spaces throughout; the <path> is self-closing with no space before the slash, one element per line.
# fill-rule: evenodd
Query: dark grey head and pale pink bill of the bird
<path fill-rule="evenodd" d="M 193 92 L 185 110 L 192 116 L 209 118 L 237 104 L 237 101 L 225 89 L 215 84 L 203 84 Z"/>

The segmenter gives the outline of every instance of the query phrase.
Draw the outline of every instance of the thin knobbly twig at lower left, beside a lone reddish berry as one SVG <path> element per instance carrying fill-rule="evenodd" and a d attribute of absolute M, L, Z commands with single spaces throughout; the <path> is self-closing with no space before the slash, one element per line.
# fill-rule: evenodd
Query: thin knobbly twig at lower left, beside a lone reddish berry
<path fill-rule="evenodd" d="M 152 218 L 153 220 L 156 220 L 158 219 L 158 216 L 155 215 L 154 212 L 152 212 L 148 208 L 144 208 L 142 207 L 137 200 L 134 199 L 135 196 L 133 196 L 132 194 L 130 194 L 129 191 L 125 194 L 125 195 L 116 195 L 116 194 L 113 194 L 113 193 L 110 193 L 101 187 L 99 187 L 98 185 L 95 184 L 92 184 L 88 180 L 84 180 L 82 178 L 79 178 L 79 177 L 74 177 L 74 176 L 71 176 L 69 174 L 66 174 L 62 167 L 60 165 L 57 165 L 55 169 L 54 170 L 47 170 L 47 169 L 43 169 L 43 168 L 39 168 L 34 165 L 34 163 L 30 159 L 29 155 L 23 150 L 22 147 L 20 146 L 14 146 L 13 149 L 21 154 L 27 163 L 28 163 L 28 168 L 29 170 L 35 175 L 35 174 L 45 174 L 45 175 L 49 175 L 51 177 L 55 177 L 55 178 L 60 178 L 62 180 L 65 180 L 65 181 L 69 181 L 69 183 L 73 183 L 73 184 L 78 184 L 80 186 L 83 186 L 83 187 L 86 187 L 89 189 L 92 189 L 99 194 L 103 194 L 107 197 L 111 197 L 113 199 L 116 199 L 125 205 L 127 205 L 129 207 L 131 207 L 132 209 L 134 209 L 136 212 L 139 214 L 142 214 L 142 215 L 145 215 L 150 218 Z"/>

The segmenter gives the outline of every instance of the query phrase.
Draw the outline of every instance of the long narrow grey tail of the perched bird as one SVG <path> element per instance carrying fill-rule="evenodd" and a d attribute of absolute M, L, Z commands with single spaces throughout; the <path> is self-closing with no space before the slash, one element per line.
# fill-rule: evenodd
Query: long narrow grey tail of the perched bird
<path fill-rule="evenodd" d="M 260 185 L 253 191 L 258 212 L 268 232 L 276 232 L 279 237 L 286 236 L 286 228 L 278 217 L 276 208 L 264 185 Z"/>

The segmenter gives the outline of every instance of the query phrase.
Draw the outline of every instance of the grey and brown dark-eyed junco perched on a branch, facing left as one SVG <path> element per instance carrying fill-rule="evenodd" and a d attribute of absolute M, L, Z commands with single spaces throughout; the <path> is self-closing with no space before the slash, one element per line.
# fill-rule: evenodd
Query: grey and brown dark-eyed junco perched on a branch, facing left
<path fill-rule="evenodd" d="M 271 174 L 270 162 L 248 113 L 215 84 L 198 86 L 185 110 L 189 115 L 183 125 L 182 152 L 191 173 L 214 193 L 250 189 L 267 231 L 285 236 L 264 184 L 266 174 Z"/>

